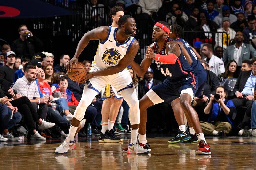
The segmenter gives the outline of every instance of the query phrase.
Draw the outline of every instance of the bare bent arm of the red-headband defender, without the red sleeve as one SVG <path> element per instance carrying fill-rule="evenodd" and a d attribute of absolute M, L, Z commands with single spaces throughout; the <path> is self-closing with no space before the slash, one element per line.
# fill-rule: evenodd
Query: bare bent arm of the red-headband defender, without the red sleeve
<path fill-rule="evenodd" d="M 150 48 L 152 49 L 154 47 L 154 43 L 150 45 Z M 146 51 L 146 54 L 148 53 L 148 49 Z M 151 65 L 152 59 L 151 58 L 144 58 L 140 64 L 136 63 L 134 60 L 131 63 L 132 69 L 135 71 L 135 73 L 142 77 L 146 71 L 148 70 L 148 67 Z"/>

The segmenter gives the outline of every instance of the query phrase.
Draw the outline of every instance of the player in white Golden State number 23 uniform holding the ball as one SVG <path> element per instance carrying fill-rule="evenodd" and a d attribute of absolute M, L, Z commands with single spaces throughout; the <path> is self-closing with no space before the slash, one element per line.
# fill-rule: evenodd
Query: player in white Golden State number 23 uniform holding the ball
<path fill-rule="evenodd" d="M 67 153 L 76 148 L 74 135 L 80 121 L 84 118 L 86 108 L 94 97 L 107 84 L 111 84 L 117 93 L 122 95 L 130 107 L 129 119 L 131 122 L 131 142 L 128 146 L 128 154 L 148 154 L 137 143 L 140 123 L 139 100 L 132 82 L 132 78 L 125 69 L 138 52 L 139 43 L 134 39 L 136 23 L 130 15 L 119 18 L 118 28 L 101 26 L 95 28 L 82 37 L 76 48 L 74 57 L 69 61 L 67 70 L 72 69 L 72 63 L 78 62 L 78 57 L 90 40 L 100 40 L 90 73 L 84 77 L 85 86 L 82 98 L 76 107 L 68 137 L 55 150 L 57 154 Z"/>

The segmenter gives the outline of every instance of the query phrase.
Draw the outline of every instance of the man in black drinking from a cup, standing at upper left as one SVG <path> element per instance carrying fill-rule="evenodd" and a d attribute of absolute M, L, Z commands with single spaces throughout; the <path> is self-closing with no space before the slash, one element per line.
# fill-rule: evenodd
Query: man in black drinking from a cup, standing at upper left
<path fill-rule="evenodd" d="M 17 57 L 21 57 L 24 54 L 34 55 L 42 51 L 43 42 L 33 35 L 26 25 L 20 25 L 18 33 L 20 35 L 19 38 L 14 40 L 11 45 L 11 49 L 16 53 Z"/>

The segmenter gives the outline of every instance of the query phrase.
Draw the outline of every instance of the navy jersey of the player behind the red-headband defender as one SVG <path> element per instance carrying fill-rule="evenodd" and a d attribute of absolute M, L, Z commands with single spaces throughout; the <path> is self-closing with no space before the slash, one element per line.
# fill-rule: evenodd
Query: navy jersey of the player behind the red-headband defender
<path fill-rule="evenodd" d="M 195 71 L 205 70 L 203 65 L 198 60 L 194 50 L 190 47 L 189 43 L 186 40 L 182 39 L 182 38 L 178 38 L 178 39 L 176 39 L 176 41 L 180 41 L 184 44 L 184 47 L 188 51 L 188 54 L 190 55 L 190 57 L 193 61 L 192 65 L 191 65 L 192 69 L 194 69 Z"/>

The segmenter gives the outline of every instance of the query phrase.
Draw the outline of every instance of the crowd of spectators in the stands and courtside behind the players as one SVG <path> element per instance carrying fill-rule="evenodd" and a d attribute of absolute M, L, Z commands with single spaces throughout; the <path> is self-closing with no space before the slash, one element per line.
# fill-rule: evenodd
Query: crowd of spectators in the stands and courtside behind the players
<path fill-rule="evenodd" d="M 250 0 L 116 0 L 109 1 L 130 15 L 150 22 L 179 24 L 184 31 L 201 32 L 191 44 L 202 59 L 207 82 L 192 106 L 205 135 L 256 136 L 256 3 Z M 97 7 L 106 5 L 90 0 L 90 22 L 106 16 Z M 136 10 L 134 10 L 136 9 Z M 88 11 L 88 10 L 87 10 Z M 86 14 L 85 14 L 86 15 Z M 138 21 L 140 22 L 140 21 Z M 206 32 L 206 33 L 202 33 Z M 218 33 L 216 33 L 218 32 Z M 27 130 L 30 140 L 67 136 L 74 111 L 81 100 L 84 85 L 66 74 L 70 55 L 54 56 L 44 52 L 43 42 L 26 25 L 18 28 L 19 38 L 2 44 L 0 52 L 0 141 L 17 141 L 17 127 Z M 148 35 L 150 37 L 150 35 Z M 186 37 L 184 38 L 186 39 Z M 149 44 L 148 44 L 149 45 Z M 64 50 L 64 49 L 63 49 Z M 196 57 L 196 56 L 195 56 Z M 85 59 L 81 56 L 80 59 Z M 60 64 L 54 64 L 55 62 Z M 91 61 L 84 60 L 87 72 Z M 128 68 L 141 99 L 153 86 L 161 83 L 148 68 L 141 78 Z M 232 83 L 233 82 L 233 83 Z M 216 95 L 218 94 L 218 95 Z M 86 109 L 78 136 L 86 135 L 90 123 L 92 134 L 99 135 L 102 100 L 99 94 Z M 116 129 L 129 133 L 129 107 L 123 100 L 116 118 Z M 169 132 L 176 128 L 168 103 L 148 108 L 147 132 L 152 128 Z M 15 128 L 16 127 L 16 128 Z"/>

